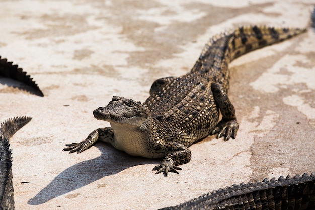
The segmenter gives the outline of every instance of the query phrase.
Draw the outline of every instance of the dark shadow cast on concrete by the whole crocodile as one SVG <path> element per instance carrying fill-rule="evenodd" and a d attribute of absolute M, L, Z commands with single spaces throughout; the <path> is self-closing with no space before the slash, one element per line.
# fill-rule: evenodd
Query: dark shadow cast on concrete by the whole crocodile
<path fill-rule="evenodd" d="M 44 189 L 28 201 L 29 205 L 40 205 L 60 195 L 84 187 L 105 176 L 117 174 L 124 169 L 142 164 L 157 164 L 159 160 L 133 157 L 104 143 L 95 146 L 101 155 L 70 166 L 55 177 Z M 68 155 L 68 154 L 67 154 Z"/>

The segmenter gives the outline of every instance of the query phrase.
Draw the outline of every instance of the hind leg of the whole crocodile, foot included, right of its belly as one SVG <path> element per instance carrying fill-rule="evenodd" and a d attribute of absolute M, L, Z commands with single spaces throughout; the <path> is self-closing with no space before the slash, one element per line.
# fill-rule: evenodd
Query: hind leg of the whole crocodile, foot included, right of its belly
<path fill-rule="evenodd" d="M 211 134 L 217 134 L 216 138 L 224 136 L 224 141 L 227 141 L 230 137 L 235 139 L 239 123 L 236 120 L 234 106 L 228 99 L 227 93 L 221 84 L 211 84 L 211 90 L 214 100 L 222 113 L 222 120 L 212 130 Z"/>

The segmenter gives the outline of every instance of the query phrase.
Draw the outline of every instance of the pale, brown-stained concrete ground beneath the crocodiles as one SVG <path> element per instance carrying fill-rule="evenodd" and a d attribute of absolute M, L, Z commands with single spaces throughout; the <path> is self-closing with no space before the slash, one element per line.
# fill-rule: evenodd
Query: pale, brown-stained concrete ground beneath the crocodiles
<path fill-rule="evenodd" d="M 213 35 L 241 25 L 308 27 L 315 1 L 1 1 L 0 55 L 38 97 L 0 78 L 0 121 L 31 116 L 10 140 L 16 209 L 157 209 L 234 183 L 315 171 L 315 32 L 231 63 L 237 139 L 190 147 L 180 174 L 160 160 L 98 143 L 65 144 L 108 126 L 93 117 L 113 95 L 144 101 L 152 82 L 180 76 Z"/>

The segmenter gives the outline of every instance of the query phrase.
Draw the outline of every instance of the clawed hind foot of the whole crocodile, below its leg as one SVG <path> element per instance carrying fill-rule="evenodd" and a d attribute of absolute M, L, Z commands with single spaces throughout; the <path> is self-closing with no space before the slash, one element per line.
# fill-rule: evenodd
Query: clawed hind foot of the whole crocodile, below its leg
<path fill-rule="evenodd" d="M 236 120 L 221 120 L 218 125 L 212 130 L 211 134 L 217 134 L 216 138 L 224 136 L 224 141 L 232 137 L 235 139 L 236 133 L 239 129 L 239 123 Z"/>

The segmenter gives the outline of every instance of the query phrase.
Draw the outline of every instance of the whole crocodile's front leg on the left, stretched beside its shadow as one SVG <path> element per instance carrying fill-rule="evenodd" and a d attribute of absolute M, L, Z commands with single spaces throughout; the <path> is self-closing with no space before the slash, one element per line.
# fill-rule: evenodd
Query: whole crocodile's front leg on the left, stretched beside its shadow
<path fill-rule="evenodd" d="M 99 128 L 89 134 L 89 136 L 80 143 L 66 144 L 67 148 L 62 151 L 70 151 L 70 153 L 81 153 L 90 148 L 96 141 L 106 143 L 114 142 L 114 132 L 111 127 Z"/>

